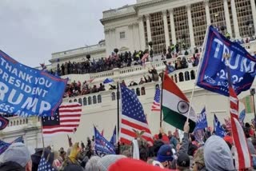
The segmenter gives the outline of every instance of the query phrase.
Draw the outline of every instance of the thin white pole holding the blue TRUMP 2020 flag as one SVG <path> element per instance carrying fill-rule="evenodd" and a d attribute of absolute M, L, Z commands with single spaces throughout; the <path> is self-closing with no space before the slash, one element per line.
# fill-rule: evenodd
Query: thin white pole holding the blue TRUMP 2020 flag
<path fill-rule="evenodd" d="M 204 39 L 203 44 L 202 44 L 202 53 L 200 54 L 199 63 L 198 63 L 198 69 L 197 69 L 197 74 L 196 74 L 196 77 L 195 77 L 195 79 L 194 79 L 194 86 L 193 86 L 192 93 L 191 93 L 191 97 L 190 97 L 190 106 L 189 106 L 189 111 L 188 111 L 188 113 L 187 113 L 186 121 L 189 121 L 189 119 L 190 119 L 190 110 L 191 110 L 192 101 L 193 101 L 193 97 L 194 97 L 194 89 L 195 89 L 195 85 L 197 84 L 196 82 L 197 82 L 197 80 L 198 80 L 199 69 L 200 69 L 201 66 L 202 66 L 202 57 L 203 57 L 203 54 L 205 54 L 205 46 L 206 46 L 207 37 L 208 37 L 208 34 L 209 34 L 209 28 L 210 28 L 210 26 L 207 26 L 206 36 L 205 36 L 205 39 Z"/>

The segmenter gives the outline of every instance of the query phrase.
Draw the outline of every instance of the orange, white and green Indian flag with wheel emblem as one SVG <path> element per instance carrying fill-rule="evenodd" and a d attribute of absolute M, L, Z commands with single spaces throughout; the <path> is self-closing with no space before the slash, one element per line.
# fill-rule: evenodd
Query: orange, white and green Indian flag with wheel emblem
<path fill-rule="evenodd" d="M 162 113 L 163 121 L 174 127 L 183 130 L 183 126 L 188 116 L 190 101 L 178 86 L 165 74 L 162 88 Z M 190 109 L 189 122 L 190 132 L 194 131 L 197 117 L 194 109 Z"/>

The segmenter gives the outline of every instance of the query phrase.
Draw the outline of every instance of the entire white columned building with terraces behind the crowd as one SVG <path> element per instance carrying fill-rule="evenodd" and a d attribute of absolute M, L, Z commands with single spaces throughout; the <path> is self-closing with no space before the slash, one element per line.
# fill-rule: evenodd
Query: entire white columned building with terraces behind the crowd
<path fill-rule="evenodd" d="M 105 40 L 97 45 L 85 46 L 75 50 L 65 50 L 52 54 L 50 68 L 56 69 L 58 63 L 82 62 L 86 54 L 91 58 L 108 57 L 115 48 L 119 53 L 134 50 L 145 50 L 149 42 L 153 42 L 154 62 L 146 62 L 145 66 L 130 66 L 120 69 L 109 70 L 94 74 L 69 74 L 62 78 L 69 78 L 69 83 L 81 83 L 93 79 L 92 85 L 99 85 L 106 78 L 113 78 L 113 84 L 125 80 L 126 85 L 130 82 L 139 82 L 144 75 L 149 75 L 148 70 L 153 66 L 158 74 L 165 70 L 166 66 L 160 60 L 162 50 L 181 43 L 189 48 L 189 55 L 182 55 L 181 58 L 192 58 L 194 48 L 202 46 L 206 34 L 206 27 L 225 26 L 230 33 L 232 40 L 246 40 L 256 34 L 256 2 L 254 0 L 137 0 L 137 3 L 130 6 L 122 6 L 114 10 L 103 11 L 100 20 L 104 26 Z M 256 51 L 256 42 L 244 43 L 250 53 Z M 159 60 L 156 60 L 159 59 Z M 167 59 L 167 62 L 175 62 L 177 58 Z M 188 67 L 182 70 L 175 70 L 170 77 L 176 78 L 175 82 L 190 99 L 194 86 L 194 77 L 197 67 Z M 186 79 L 180 79 L 179 75 L 188 74 Z M 159 130 L 159 112 L 152 112 L 151 105 L 154 101 L 155 86 L 161 82 L 150 82 L 142 85 L 131 86 L 130 89 L 139 90 L 138 98 L 142 102 L 152 134 Z M 255 82 L 253 87 L 255 88 Z M 86 137 L 94 134 L 93 125 L 100 131 L 104 129 L 104 136 L 110 139 L 114 126 L 117 125 L 117 94 L 116 90 L 106 90 L 99 93 L 90 93 L 78 97 L 63 98 L 63 101 L 78 101 L 82 104 L 81 123 L 76 133 L 70 134 L 73 141 L 84 141 Z M 143 93 L 142 93 L 143 89 Z M 250 95 L 250 91 L 243 92 L 239 98 Z M 206 113 L 209 125 L 213 126 L 213 114 L 224 123 L 224 118 L 229 117 L 229 99 L 211 93 L 199 87 L 195 88 L 193 106 L 196 113 L 200 113 L 206 106 Z M 246 114 L 246 120 L 250 121 L 254 113 Z M 23 136 L 25 143 L 31 152 L 34 148 L 42 147 L 42 136 L 40 122 L 37 117 L 20 118 L 10 117 L 10 125 L 0 131 L 0 137 L 4 141 L 13 141 L 15 137 Z M 174 130 L 170 125 L 163 124 L 167 132 Z M 66 134 L 45 138 L 46 145 L 53 145 L 54 149 L 67 147 Z"/>

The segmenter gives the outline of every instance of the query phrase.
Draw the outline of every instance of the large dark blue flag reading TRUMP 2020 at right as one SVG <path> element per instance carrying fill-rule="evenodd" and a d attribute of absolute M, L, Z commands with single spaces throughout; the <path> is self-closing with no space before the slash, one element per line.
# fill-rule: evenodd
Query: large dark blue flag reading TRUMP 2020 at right
<path fill-rule="evenodd" d="M 198 70 L 197 85 L 215 93 L 229 96 L 226 56 L 230 57 L 230 82 L 238 95 L 250 89 L 256 74 L 256 58 L 251 56 L 237 42 L 230 42 L 219 34 L 213 26 L 209 27 Z"/>

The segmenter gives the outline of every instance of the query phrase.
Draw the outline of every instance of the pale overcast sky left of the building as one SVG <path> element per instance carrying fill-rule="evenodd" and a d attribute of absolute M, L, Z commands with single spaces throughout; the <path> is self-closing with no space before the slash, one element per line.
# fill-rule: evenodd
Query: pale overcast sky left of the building
<path fill-rule="evenodd" d="M 0 0 L 0 50 L 26 66 L 104 39 L 103 10 L 136 0 Z"/>

